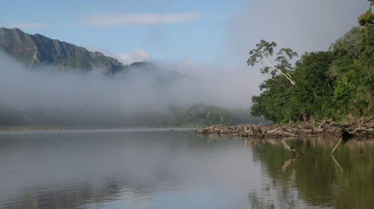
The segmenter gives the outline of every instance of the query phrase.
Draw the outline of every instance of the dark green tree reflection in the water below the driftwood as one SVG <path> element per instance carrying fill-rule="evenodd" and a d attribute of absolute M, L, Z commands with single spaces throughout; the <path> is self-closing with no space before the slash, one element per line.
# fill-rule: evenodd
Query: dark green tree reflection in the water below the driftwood
<path fill-rule="evenodd" d="M 330 155 L 339 139 L 288 139 L 305 152 L 292 157 L 279 139 L 248 139 L 254 161 L 261 164 L 264 188 L 249 192 L 252 208 L 374 207 L 374 141 L 355 138 L 344 141 Z"/>

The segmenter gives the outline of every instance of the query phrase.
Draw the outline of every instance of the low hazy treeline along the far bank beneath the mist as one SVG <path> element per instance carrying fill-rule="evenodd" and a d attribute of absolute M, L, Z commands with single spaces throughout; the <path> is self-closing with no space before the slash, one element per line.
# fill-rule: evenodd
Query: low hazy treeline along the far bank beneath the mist
<path fill-rule="evenodd" d="M 236 125 L 247 123 L 268 124 L 263 117 L 252 117 L 250 109 L 232 109 L 194 104 L 189 107 L 170 104 L 164 110 L 124 112 L 118 109 L 75 109 L 32 107 L 14 109 L 0 106 L 0 126 L 41 125 L 79 127 L 160 127 L 201 126 L 210 124 Z"/>

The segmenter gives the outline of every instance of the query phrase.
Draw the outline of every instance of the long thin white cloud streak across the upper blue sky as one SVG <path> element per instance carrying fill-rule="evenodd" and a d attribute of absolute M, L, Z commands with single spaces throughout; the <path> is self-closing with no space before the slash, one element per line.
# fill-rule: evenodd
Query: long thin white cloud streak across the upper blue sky
<path fill-rule="evenodd" d="M 102 13 L 84 17 L 81 22 L 94 27 L 130 27 L 196 21 L 199 13 Z"/>

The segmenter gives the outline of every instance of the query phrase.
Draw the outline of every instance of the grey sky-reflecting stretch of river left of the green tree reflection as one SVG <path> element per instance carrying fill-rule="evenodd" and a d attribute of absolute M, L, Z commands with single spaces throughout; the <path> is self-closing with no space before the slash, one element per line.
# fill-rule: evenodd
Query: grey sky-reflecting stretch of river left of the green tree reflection
<path fill-rule="evenodd" d="M 3 134 L 0 208 L 243 208 L 248 159 L 241 140 L 178 132 Z"/>

